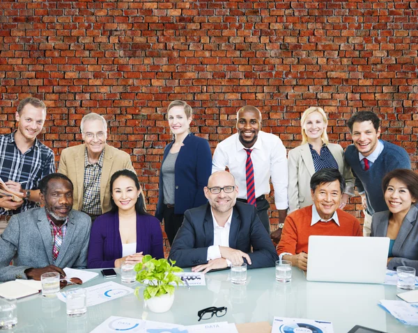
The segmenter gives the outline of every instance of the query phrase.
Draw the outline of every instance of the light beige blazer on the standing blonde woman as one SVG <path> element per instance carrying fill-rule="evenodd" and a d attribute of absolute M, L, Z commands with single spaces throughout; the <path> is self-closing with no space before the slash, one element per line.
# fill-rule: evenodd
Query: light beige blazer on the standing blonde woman
<path fill-rule="evenodd" d="M 346 179 L 346 189 L 344 193 L 354 195 L 353 173 L 350 166 L 344 160 L 344 151 L 340 145 L 329 143 L 328 149 L 336 163 L 339 172 Z M 309 144 L 305 143 L 293 148 L 288 152 L 288 200 L 289 212 L 295 211 L 313 204 L 311 198 L 311 177 L 315 173 L 314 160 L 312 159 Z"/>

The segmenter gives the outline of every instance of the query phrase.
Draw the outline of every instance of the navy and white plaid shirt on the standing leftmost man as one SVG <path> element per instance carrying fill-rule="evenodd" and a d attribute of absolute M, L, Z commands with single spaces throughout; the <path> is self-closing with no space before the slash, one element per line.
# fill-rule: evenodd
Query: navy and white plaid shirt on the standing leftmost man
<path fill-rule="evenodd" d="M 37 190 L 39 181 L 47 174 L 55 172 L 54 152 L 38 139 L 22 154 L 15 143 L 15 133 L 0 136 L 0 177 L 3 181 L 17 181 L 22 188 Z M 24 199 L 15 211 L 0 208 L 0 215 L 13 215 L 39 206 L 36 202 Z"/>

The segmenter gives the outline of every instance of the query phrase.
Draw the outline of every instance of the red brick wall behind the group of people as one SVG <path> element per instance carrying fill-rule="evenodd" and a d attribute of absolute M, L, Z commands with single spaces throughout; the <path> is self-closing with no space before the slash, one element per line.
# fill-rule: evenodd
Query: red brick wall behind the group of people
<path fill-rule="evenodd" d="M 0 133 L 15 126 L 20 99 L 38 97 L 48 107 L 42 140 L 59 160 L 80 143 L 82 116 L 104 115 L 151 211 L 174 99 L 193 106 L 192 130 L 213 149 L 245 104 L 287 148 L 300 143 L 309 106 L 325 108 L 330 140 L 343 147 L 350 115 L 374 111 L 382 138 L 416 170 L 417 22 L 416 1 L 2 0 Z M 350 202 L 359 216 L 358 198 Z"/>

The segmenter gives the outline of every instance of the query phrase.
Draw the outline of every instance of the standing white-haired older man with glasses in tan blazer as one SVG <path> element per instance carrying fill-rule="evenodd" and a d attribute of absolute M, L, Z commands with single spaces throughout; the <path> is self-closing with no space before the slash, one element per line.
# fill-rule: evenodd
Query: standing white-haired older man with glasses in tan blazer
<path fill-rule="evenodd" d="M 63 149 L 58 172 L 74 184 L 72 208 L 91 220 L 110 211 L 110 177 L 114 172 L 135 172 L 129 154 L 107 145 L 107 122 L 97 113 L 84 115 L 80 125 L 84 144 Z"/>

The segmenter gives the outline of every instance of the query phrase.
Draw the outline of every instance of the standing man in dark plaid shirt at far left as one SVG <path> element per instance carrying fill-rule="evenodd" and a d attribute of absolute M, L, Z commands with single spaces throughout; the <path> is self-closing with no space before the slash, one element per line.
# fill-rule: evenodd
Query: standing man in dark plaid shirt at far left
<path fill-rule="evenodd" d="M 15 202 L 0 193 L 0 234 L 10 216 L 37 206 L 40 179 L 55 172 L 54 152 L 36 138 L 47 117 L 45 104 L 33 97 L 22 99 L 15 117 L 17 130 L 0 136 L 0 177 L 24 200 Z"/>

